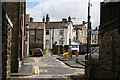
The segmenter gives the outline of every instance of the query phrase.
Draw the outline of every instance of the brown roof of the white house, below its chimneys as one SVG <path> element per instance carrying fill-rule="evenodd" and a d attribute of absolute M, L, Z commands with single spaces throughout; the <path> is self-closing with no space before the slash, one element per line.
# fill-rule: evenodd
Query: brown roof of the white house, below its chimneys
<path fill-rule="evenodd" d="M 59 28 L 67 28 L 69 22 L 50 22 L 45 24 L 45 28 L 59 29 Z"/>

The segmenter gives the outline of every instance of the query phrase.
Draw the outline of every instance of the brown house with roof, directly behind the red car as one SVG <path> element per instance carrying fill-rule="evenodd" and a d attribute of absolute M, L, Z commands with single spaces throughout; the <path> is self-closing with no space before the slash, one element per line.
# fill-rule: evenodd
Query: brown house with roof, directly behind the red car
<path fill-rule="evenodd" d="M 30 49 L 44 48 L 44 30 L 45 23 L 43 22 L 29 22 L 29 45 Z"/>

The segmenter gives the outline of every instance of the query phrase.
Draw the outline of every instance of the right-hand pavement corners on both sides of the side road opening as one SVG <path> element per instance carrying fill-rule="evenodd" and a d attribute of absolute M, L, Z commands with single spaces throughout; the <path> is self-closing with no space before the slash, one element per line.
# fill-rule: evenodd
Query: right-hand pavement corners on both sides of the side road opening
<path fill-rule="evenodd" d="M 58 60 L 64 62 L 66 65 L 72 68 L 83 68 L 85 69 L 85 59 L 84 55 L 78 56 L 78 61 L 76 61 L 76 56 L 72 55 L 72 58 L 63 58 L 62 55 L 52 55 L 56 57 Z M 78 75 L 70 75 L 68 76 L 71 80 L 89 80 L 89 78 L 85 74 L 78 74 Z"/>

